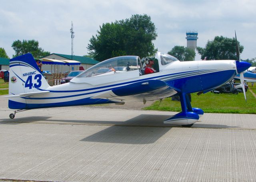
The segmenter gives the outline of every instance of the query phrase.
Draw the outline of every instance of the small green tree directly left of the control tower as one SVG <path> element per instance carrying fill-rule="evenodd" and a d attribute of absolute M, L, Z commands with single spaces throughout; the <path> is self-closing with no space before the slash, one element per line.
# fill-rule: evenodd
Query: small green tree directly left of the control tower
<path fill-rule="evenodd" d="M 169 55 L 176 57 L 180 61 L 192 61 L 196 52 L 188 47 L 176 45 L 168 52 Z"/>

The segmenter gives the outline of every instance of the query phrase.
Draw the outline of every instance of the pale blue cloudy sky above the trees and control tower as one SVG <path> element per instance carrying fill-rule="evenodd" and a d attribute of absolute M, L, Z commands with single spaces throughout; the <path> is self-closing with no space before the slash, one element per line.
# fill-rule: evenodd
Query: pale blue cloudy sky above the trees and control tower
<path fill-rule="evenodd" d="M 12 58 L 16 40 L 35 39 L 50 53 L 88 55 L 86 47 L 103 23 L 147 14 L 156 26 L 159 52 L 186 47 L 186 32 L 197 31 L 197 46 L 215 36 L 236 35 L 244 46 L 242 59 L 256 57 L 255 0 L 0 0 L 0 47 Z M 196 60 L 200 55 L 196 54 Z"/>

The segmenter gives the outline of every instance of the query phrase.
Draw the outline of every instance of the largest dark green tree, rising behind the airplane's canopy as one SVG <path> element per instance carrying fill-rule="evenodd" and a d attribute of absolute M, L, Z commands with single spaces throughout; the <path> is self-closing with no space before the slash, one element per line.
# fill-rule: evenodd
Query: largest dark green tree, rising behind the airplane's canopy
<path fill-rule="evenodd" d="M 96 36 L 90 39 L 87 49 L 97 61 L 118 55 L 146 57 L 156 53 L 152 43 L 156 37 L 156 27 L 150 16 L 136 14 L 130 19 L 103 23 Z"/>

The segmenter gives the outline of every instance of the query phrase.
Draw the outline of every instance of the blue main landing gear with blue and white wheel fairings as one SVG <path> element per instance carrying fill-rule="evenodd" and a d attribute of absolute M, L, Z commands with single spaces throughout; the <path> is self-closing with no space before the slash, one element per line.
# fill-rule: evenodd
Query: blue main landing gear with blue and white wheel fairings
<path fill-rule="evenodd" d="M 199 117 L 201 117 L 204 112 L 199 108 L 192 108 L 190 99 L 186 93 L 180 93 L 179 96 L 182 112 L 166 119 L 164 123 L 181 125 L 182 127 L 191 127 L 198 121 Z"/>

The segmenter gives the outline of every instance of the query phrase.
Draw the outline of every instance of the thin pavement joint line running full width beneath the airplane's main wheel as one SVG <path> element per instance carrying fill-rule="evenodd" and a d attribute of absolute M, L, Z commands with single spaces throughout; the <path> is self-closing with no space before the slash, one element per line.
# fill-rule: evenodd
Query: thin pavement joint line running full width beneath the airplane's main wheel
<path fill-rule="evenodd" d="M 28 124 L 56 124 L 56 125 L 91 125 L 91 126 L 126 126 L 126 127 L 170 127 L 189 129 L 232 129 L 232 130 L 256 130 L 256 128 L 222 128 L 222 127 L 182 127 L 182 126 L 158 126 L 158 125 L 114 125 L 114 124 L 83 124 L 83 123 L 45 123 L 45 122 L 24 122 L 24 121 L 0 121 L 0 123 L 28 123 Z"/>

